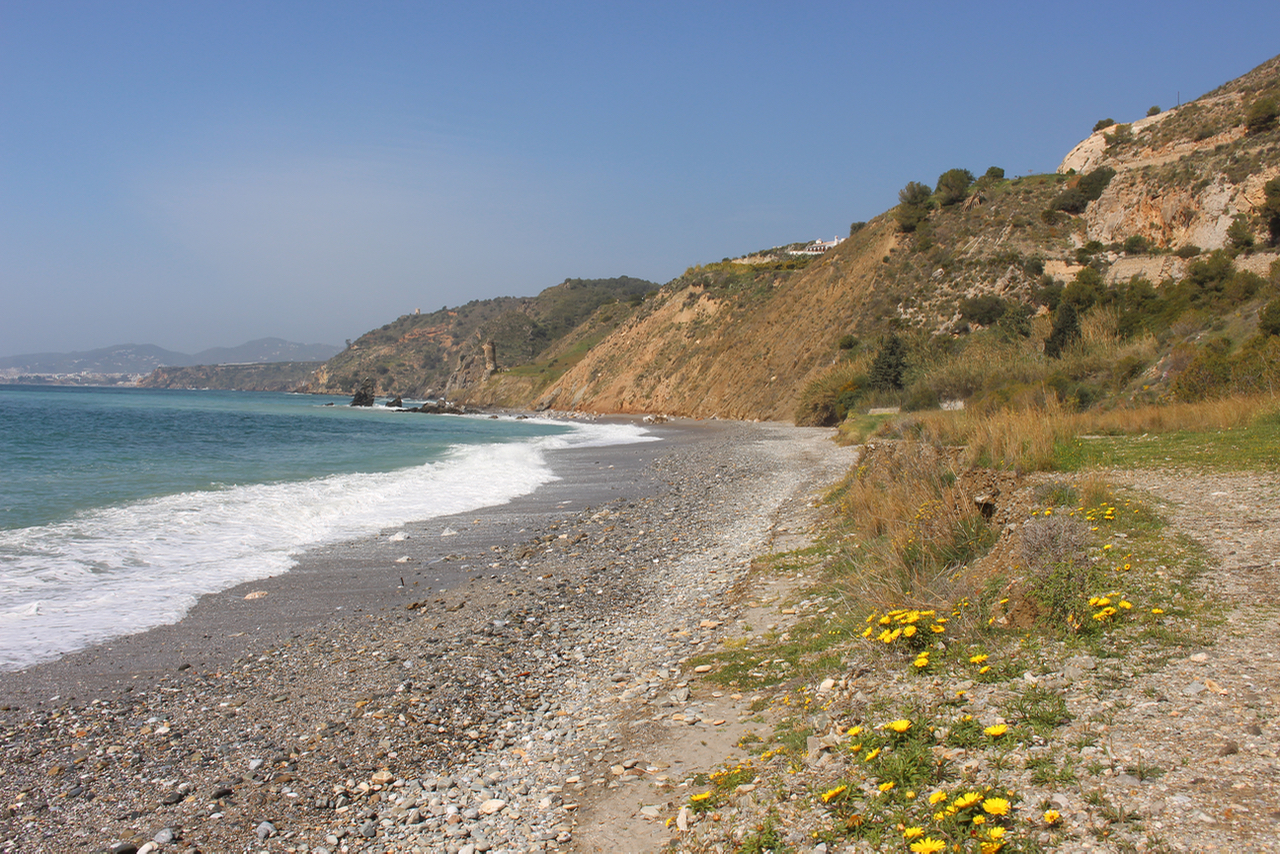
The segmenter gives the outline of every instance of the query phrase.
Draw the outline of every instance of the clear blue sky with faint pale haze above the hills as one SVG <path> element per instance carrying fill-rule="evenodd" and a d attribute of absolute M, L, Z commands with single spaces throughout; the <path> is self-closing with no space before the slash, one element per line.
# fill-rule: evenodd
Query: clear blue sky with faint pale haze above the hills
<path fill-rule="evenodd" d="M 1275 0 L 0 0 L 0 356 L 666 282 L 1051 172 L 1276 33 Z"/>

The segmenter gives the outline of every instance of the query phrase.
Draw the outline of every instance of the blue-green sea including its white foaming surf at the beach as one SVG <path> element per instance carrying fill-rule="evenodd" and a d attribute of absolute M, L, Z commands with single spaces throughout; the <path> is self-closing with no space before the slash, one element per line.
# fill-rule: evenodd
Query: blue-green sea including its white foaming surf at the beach
<path fill-rule="evenodd" d="M 0 385 L 0 670 L 177 622 L 314 547 L 509 502 L 556 480 L 556 448 L 653 438 L 348 402 Z"/>

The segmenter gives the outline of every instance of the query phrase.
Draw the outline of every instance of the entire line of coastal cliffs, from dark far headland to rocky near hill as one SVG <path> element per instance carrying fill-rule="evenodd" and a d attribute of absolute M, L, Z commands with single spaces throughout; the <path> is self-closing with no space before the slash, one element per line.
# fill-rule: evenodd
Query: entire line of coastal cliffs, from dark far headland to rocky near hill
<path fill-rule="evenodd" d="M 914 186 L 922 198 L 904 195 L 854 223 L 818 257 L 776 247 L 691 266 L 660 288 L 567 280 L 536 298 L 407 315 L 366 333 L 301 391 L 343 392 L 371 376 L 379 392 L 476 405 L 778 420 L 796 417 L 815 384 L 837 396 L 859 385 L 851 369 L 835 375 L 899 334 L 915 365 L 916 391 L 904 394 L 936 406 L 983 383 L 922 388 L 928 365 L 955 359 L 966 335 L 1001 318 L 1006 337 L 1039 352 L 1064 292 L 1082 315 L 1097 306 L 1121 318 L 1097 315 L 1094 325 L 1155 337 L 1129 378 L 1151 389 L 1192 361 L 1175 351 L 1215 324 L 1233 341 L 1252 334 L 1275 289 L 1277 99 L 1280 58 L 1174 109 L 1098 122 L 1053 173 L 1006 178 L 992 166 L 977 179 L 950 170 L 937 189 L 911 182 L 904 193 Z M 1256 278 L 1228 283 L 1242 273 Z M 1217 277 L 1210 291 L 1239 298 L 1208 305 L 1206 277 Z M 1126 293 L 1153 294 L 1149 316 L 1134 315 Z M 1224 316 L 1238 320 L 1224 328 Z M 1097 393 L 1133 392 L 1112 379 L 1070 378 L 1107 387 Z"/>

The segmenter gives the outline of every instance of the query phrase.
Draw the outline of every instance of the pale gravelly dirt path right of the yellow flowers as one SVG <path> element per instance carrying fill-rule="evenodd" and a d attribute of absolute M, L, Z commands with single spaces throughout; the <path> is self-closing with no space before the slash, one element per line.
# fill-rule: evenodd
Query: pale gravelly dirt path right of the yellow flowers
<path fill-rule="evenodd" d="M 1216 644 L 1138 677 L 1117 720 L 1114 790 L 1172 850 L 1280 850 L 1280 478 L 1271 474 L 1112 474 L 1170 503 L 1175 530 L 1208 551 L 1204 592 L 1226 608 Z"/>

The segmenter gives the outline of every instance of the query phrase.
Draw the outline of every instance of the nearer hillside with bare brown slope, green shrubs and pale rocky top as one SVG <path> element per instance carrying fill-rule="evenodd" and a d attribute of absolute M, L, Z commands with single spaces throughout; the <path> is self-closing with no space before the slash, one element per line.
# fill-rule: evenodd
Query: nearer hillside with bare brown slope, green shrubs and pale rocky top
<path fill-rule="evenodd" d="M 1277 100 L 1274 59 L 1175 109 L 1100 120 L 1055 173 L 909 182 L 815 260 L 690 268 L 545 391 L 499 371 L 467 393 L 835 424 L 1274 388 Z"/>

